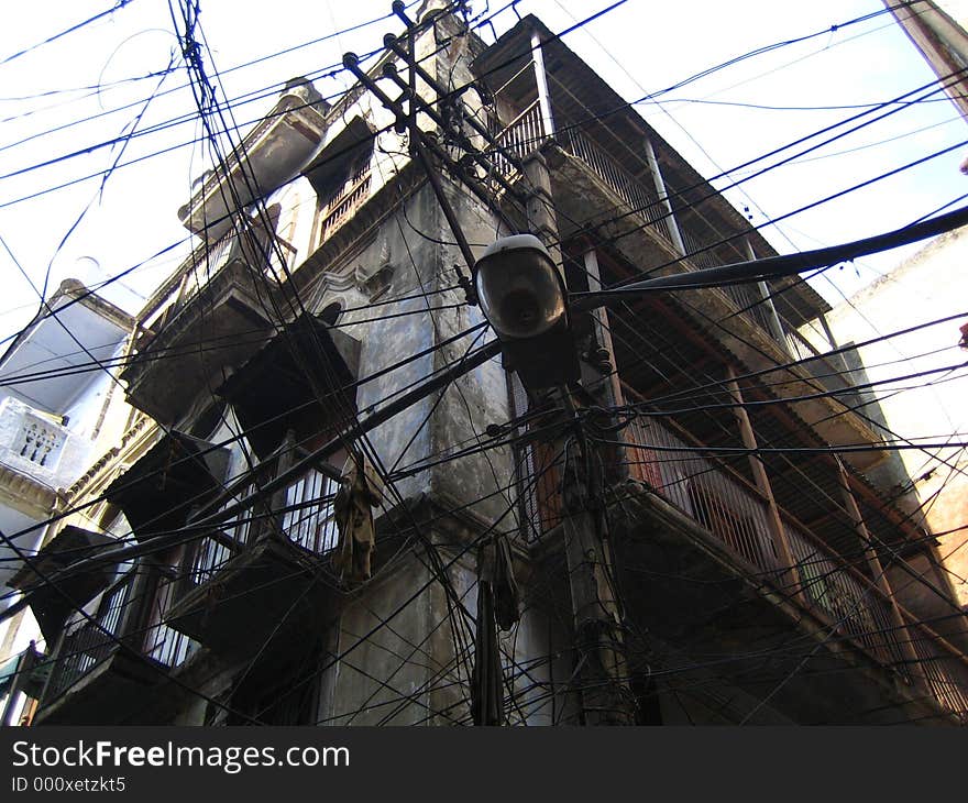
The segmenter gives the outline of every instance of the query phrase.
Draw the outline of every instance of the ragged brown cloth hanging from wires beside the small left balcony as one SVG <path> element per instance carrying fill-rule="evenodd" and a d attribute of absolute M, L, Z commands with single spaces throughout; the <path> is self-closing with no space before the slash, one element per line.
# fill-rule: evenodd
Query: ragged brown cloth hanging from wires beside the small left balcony
<path fill-rule="evenodd" d="M 370 561 L 376 542 L 373 506 L 383 498 L 383 482 L 361 453 L 350 454 L 343 465 L 333 514 L 340 543 L 333 564 L 348 580 L 369 580 Z"/>

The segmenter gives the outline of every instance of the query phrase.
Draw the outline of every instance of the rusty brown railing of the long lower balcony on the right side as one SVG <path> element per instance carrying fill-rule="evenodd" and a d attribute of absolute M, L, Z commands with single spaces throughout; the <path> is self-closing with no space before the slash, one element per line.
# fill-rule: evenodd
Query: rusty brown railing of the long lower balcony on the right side
<path fill-rule="evenodd" d="M 641 402 L 631 388 L 624 386 L 624 393 Z M 832 639 L 851 641 L 943 711 L 968 721 L 968 660 L 903 610 L 906 627 L 899 627 L 892 600 L 870 578 L 781 509 L 782 534 L 799 578 L 799 586 L 792 586 L 792 575 L 771 535 L 770 503 L 755 485 L 705 457 L 702 444 L 674 425 L 636 418 L 625 428 L 624 440 L 631 479 L 650 486 L 726 544 L 748 574 L 805 605 L 827 626 Z M 549 485 L 558 482 L 557 472 L 548 466 L 539 470 L 535 455 L 541 447 L 531 450 L 520 483 L 525 496 L 520 509 L 530 518 L 522 529 L 529 541 L 534 540 L 529 534 L 548 534 L 560 522 L 560 491 Z M 905 638 L 913 641 L 916 663 L 912 664 L 911 651 L 905 651 Z"/>

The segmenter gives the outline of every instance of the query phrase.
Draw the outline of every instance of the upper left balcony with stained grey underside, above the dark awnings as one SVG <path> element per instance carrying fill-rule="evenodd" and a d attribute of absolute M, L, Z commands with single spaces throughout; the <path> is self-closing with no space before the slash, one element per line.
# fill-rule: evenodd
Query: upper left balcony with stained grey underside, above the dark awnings
<path fill-rule="evenodd" d="M 258 238 L 255 238 L 258 240 Z M 248 241 L 246 241 L 248 242 Z M 273 331 L 265 274 L 274 248 L 228 234 L 200 246 L 155 299 L 121 378 L 128 400 L 162 424 L 175 424 L 201 388 L 251 356 Z"/>

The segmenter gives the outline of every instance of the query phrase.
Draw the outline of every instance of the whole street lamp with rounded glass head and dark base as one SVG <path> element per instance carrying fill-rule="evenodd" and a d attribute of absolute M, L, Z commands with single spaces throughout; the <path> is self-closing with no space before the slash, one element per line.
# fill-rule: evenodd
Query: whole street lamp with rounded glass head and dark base
<path fill-rule="evenodd" d="M 528 391 L 579 380 L 564 282 L 537 237 L 513 234 L 488 245 L 474 265 L 474 284 L 505 367 Z"/>

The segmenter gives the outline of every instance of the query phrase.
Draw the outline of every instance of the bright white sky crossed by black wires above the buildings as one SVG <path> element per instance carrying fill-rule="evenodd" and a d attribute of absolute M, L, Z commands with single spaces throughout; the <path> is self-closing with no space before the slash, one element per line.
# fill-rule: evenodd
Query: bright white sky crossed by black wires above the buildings
<path fill-rule="evenodd" d="M 521 0 L 517 10 L 522 15 L 535 13 L 552 31 L 561 31 L 608 4 L 608 0 Z M 110 0 L 34 0 L 19 14 L 16 25 L 0 31 L 0 61 L 110 6 Z M 235 107 L 234 122 L 248 130 L 272 107 L 276 85 L 293 76 L 317 79 L 323 95 L 339 91 L 348 84 L 345 74 L 323 76 L 340 63 L 342 53 L 374 50 L 384 33 L 398 32 L 402 25 L 396 19 L 385 19 L 352 34 L 232 68 L 384 16 L 389 6 L 389 0 L 201 0 L 201 32 L 211 48 L 205 63 L 210 76 L 221 73 L 220 99 L 248 94 L 257 98 Z M 492 11 L 502 6 L 503 0 L 491 0 Z M 474 12 L 484 7 L 483 0 L 472 3 Z M 628 0 L 569 34 L 564 42 L 631 100 L 748 51 L 828 31 L 834 24 L 882 9 L 880 0 Z M 514 11 L 506 10 L 495 18 L 494 25 L 503 33 L 516 19 Z M 179 65 L 161 84 L 161 90 L 176 91 L 156 97 L 146 107 L 145 100 L 160 79 L 128 80 L 166 68 L 177 50 L 172 31 L 167 2 L 132 0 L 96 23 L 0 64 L 0 176 L 117 138 L 130 131 L 142 112 L 138 130 L 176 118 L 185 120 L 135 138 L 123 153 L 120 146 L 102 147 L 0 178 L 0 237 L 36 287 L 43 286 L 48 274 L 48 293 L 67 276 L 86 283 L 102 280 L 185 239 L 187 232 L 179 226 L 176 210 L 187 200 L 191 179 L 208 166 L 201 147 L 185 146 L 200 135 L 193 97 L 184 88 L 185 70 Z M 491 40 L 490 29 L 481 33 Z M 661 95 L 660 103 L 638 108 L 700 173 L 712 176 L 860 110 L 763 110 L 688 100 L 782 107 L 877 103 L 933 78 L 893 18 L 881 14 L 718 70 Z M 84 89 L 98 85 L 100 92 Z M 112 112 L 129 103 L 133 105 L 130 109 Z M 92 116 L 99 117 L 78 122 Z M 59 132 L 44 133 L 67 124 L 69 128 Z M 730 198 L 740 209 L 748 207 L 752 222 L 760 226 L 770 217 L 965 140 L 968 129 L 949 102 L 919 103 L 810 154 L 810 161 L 802 158 L 743 185 L 744 191 L 734 191 Z M 151 155 L 166 148 L 172 150 Z M 102 194 L 99 179 L 43 193 L 105 170 L 119 154 L 122 163 L 142 161 L 116 170 Z M 968 193 L 968 178 L 958 172 L 966 155 L 968 146 L 955 147 L 945 156 L 823 204 L 763 233 L 779 251 L 789 252 L 903 226 Z M 43 194 L 20 200 L 37 193 Z M 88 205 L 84 220 L 58 252 L 62 239 Z M 123 282 L 133 293 L 114 288 L 105 295 L 135 311 L 138 295 L 146 296 L 186 249 L 183 244 L 128 275 Z M 910 251 L 894 251 L 865 260 L 856 268 L 829 272 L 838 287 L 822 280 L 817 289 L 836 304 L 842 294 L 850 295 Z M 37 296 L 2 248 L 0 271 L 0 338 L 7 338 L 32 317 Z M 926 310 L 911 312 L 914 320 L 930 316 Z"/>

